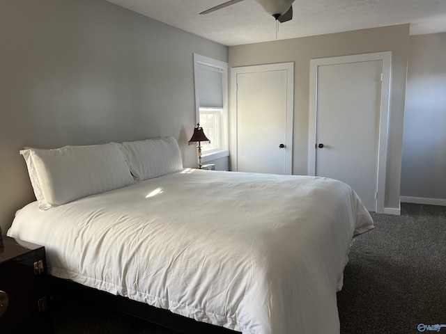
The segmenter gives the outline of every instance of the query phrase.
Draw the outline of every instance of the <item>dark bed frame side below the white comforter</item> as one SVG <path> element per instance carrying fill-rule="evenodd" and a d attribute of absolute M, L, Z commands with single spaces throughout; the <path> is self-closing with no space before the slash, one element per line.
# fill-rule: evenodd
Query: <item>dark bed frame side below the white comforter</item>
<path fill-rule="evenodd" d="M 132 301 L 123 296 L 115 296 L 92 287 L 86 287 L 79 283 L 49 276 L 51 294 L 53 299 L 75 299 L 89 301 L 101 308 L 107 308 L 122 312 L 132 317 L 144 319 L 153 324 L 169 328 L 184 334 L 241 334 L 241 332 L 199 322 L 194 319 L 176 315 L 169 310 L 155 308 L 154 306 L 139 301 Z"/>

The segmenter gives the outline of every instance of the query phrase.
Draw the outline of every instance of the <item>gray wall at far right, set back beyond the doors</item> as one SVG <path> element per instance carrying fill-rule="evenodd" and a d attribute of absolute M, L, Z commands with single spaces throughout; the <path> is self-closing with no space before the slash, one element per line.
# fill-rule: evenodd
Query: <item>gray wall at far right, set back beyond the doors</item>
<path fill-rule="evenodd" d="M 401 196 L 446 205 L 446 33 L 410 37 Z"/>

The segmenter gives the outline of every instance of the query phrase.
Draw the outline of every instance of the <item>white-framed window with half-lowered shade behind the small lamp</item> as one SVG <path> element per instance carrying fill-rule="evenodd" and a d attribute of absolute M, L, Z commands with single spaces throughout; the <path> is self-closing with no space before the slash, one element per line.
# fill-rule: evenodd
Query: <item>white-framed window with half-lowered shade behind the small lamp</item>
<path fill-rule="evenodd" d="M 203 162 L 229 155 L 228 64 L 194 54 L 197 122 L 210 140 L 203 145 Z"/>

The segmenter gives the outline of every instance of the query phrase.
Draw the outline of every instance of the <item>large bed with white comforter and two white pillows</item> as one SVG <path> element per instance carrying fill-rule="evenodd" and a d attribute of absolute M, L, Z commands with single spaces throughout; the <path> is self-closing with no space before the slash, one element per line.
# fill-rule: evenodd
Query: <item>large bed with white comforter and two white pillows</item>
<path fill-rule="evenodd" d="M 50 275 L 243 334 L 339 333 L 374 228 L 348 185 L 183 168 L 173 137 L 21 154 L 36 201 L 8 236 L 45 246 Z"/>

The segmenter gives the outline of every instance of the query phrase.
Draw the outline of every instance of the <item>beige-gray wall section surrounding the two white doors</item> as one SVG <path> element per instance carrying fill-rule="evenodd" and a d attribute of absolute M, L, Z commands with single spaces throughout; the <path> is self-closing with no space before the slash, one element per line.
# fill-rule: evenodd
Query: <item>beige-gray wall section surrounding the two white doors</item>
<path fill-rule="evenodd" d="M 229 67 L 295 63 L 293 174 L 308 173 L 309 62 L 312 58 L 392 51 L 386 212 L 399 213 L 409 25 L 229 47 Z"/>

